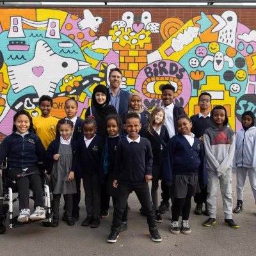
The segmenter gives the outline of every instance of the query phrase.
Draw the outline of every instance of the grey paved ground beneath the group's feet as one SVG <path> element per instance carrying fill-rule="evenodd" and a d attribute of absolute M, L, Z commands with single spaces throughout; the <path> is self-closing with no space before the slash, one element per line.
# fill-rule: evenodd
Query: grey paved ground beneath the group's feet
<path fill-rule="evenodd" d="M 236 201 L 236 175 L 233 174 L 233 198 Z M 160 194 L 160 193 L 159 193 Z M 147 255 L 147 256 L 240 256 L 255 255 L 256 207 L 248 179 L 244 191 L 244 211 L 235 214 L 234 219 L 241 228 L 233 229 L 223 223 L 221 196 L 218 197 L 218 217 L 214 227 L 206 228 L 202 222 L 206 216 L 195 216 L 193 203 L 189 223 L 190 235 L 173 235 L 169 231 L 170 212 L 163 214 L 163 223 L 159 223 L 161 243 L 154 243 L 148 236 L 147 220 L 139 213 L 140 204 L 134 195 L 129 198 L 129 229 L 115 244 L 106 243 L 109 234 L 113 207 L 109 218 L 102 220 L 99 228 L 81 227 L 85 217 L 84 203 L 81 202 L 81 220 L 74 227 L 60 221 L 58 228 L 42 227 L 40 222 L 30 227 L 8 228 L 0 236 L 1 256 L 36 255 Z M 31 204 L 32 205 L 32 204 Z M 15 204 L 17 211 L 17 203 Z M 62 212 L 62 210 L 60 210 Z"/>

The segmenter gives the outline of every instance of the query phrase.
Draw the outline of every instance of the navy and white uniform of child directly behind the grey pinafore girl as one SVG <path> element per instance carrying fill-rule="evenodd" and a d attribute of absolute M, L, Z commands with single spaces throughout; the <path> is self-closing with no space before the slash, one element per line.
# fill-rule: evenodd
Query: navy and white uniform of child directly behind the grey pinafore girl
<path fill-rule="evenodd" d="M 67 117 L 63 118 L 65 120 L 69 120 Z M 75 116 L 74 118 L 70 119 L 70 121 L 74 124 L 74 132 L 72 133 L 72 140 L 77 141 L 78 138 L 83 134 L 82 127 L 84 120 Z M 59 121 L 60 122 L 60 121 Z M 58 122 L 58 123 L 59 123 Z M 58 126 L 58 124 L 57 124 Z M 56 131 L 56 138 L 60 138 L 60 131 L 57 129 Z M 79 165 L 77 165 L 77 168 L 79 168 Z M 81 172 L 77 170 L 75 173 L 75 180 L 76 180 L 76 193 L 72 194 L 73 197 L 73 215 L 76 215 L 80 211 L 79 203 L 81 200 Z M 65 209 L 65 206 L 64 206 Z"/>

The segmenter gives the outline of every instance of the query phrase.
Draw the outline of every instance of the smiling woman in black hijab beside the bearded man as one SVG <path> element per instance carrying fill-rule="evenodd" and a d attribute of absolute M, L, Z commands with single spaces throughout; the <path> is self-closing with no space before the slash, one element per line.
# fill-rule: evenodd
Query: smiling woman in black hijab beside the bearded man
<path fill-rule="evenodd" d="M 115 107 L 109 105 L 110 94 L 106 86 L 99 84 L 96 86 L 92 93 L 92 106 L 90 106 L 85 114 L 94 116 L 97 123 L 97 134 L 103 139 L 106 138 L 108 132 L 106 129 L 106 118 L 108 115 L 118 115 Z"/>

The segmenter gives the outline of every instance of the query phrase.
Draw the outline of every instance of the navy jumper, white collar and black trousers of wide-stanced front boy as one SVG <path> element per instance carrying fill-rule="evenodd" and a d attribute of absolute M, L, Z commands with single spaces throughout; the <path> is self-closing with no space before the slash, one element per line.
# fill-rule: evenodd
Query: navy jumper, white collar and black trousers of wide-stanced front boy
<path fill-rule="evenodd" d="M 127 136 L 119 141 L 114 172 L 114 179 L 118 180 L 118 196 L 112 228 L 118 228 L 122 224 L 122 216 L 132 191 L 138 196 L 143 212 L 147 214 L 148 226 L 156 227 L 155 209 L 145 179 L 145 175 L 152 175 L 152 163 L 152 150 L 147 139 L 138 136 L 132 141 Z"/>

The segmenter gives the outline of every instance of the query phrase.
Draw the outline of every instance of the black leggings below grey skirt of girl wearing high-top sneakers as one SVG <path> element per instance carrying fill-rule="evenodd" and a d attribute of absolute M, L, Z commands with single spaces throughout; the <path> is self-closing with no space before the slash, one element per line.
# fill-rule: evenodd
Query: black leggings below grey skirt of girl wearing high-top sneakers
<path fill-rule="evenodd" d="M 179 214 L 182 211 L 182 220 L 189 219 L 189 213 L 191 209 L 191 197 L 173 198 L 172 204 L 172 220 L 179 221 Z"/>

